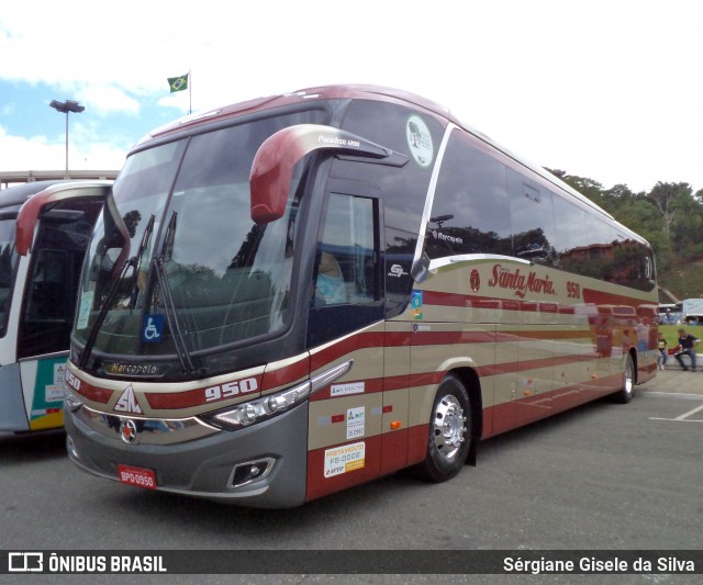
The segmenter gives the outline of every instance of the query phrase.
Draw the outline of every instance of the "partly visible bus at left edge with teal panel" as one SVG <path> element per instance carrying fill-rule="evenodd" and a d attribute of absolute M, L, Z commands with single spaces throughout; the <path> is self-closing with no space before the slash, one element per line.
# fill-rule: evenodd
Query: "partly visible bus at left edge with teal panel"
<path fill-rule="evenodd" d="M 109 182 L 0 191 L 0 431 L 64 424 L 80 269 Z"/>

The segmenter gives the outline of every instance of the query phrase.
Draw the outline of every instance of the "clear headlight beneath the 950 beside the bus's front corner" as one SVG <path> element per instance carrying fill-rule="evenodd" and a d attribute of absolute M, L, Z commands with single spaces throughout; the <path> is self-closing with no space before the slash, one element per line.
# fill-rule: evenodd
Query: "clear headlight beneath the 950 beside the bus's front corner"
<path fill-rule="evenodd" d="M 237 430 L 290 410 L 310 396 L 310 382 L 304 382 L 271 396 L 237 404 L 226 410 L 200 415 L 200 418 L 225 430 Z"/>

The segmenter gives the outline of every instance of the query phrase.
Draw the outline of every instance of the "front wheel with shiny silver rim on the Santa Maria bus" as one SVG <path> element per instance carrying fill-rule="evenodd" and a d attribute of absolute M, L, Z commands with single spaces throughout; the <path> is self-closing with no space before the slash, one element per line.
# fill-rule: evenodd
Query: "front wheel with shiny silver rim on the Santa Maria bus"
<path fill-rule="evenodd" d="M 448 374 L 435 394 L 427 432 L 427 455 L 413 471 L 419 477 L 442 483 L 457 475 L 471 447 L 471 405 L 466 387 Z"/>

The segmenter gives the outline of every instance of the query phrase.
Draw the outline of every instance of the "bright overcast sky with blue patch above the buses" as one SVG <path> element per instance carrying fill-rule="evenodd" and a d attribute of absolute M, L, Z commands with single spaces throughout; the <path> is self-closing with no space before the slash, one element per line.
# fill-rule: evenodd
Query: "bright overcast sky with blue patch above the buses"
<path fill-rule="evenodd" d="M 70 7 L 70 8 L 69 8 Z M 0 171 L 119 169 L 193 111 L 327 83 L 412 91 L 606 189 L 703 189 L 703 2 L 5 0 Z"/>

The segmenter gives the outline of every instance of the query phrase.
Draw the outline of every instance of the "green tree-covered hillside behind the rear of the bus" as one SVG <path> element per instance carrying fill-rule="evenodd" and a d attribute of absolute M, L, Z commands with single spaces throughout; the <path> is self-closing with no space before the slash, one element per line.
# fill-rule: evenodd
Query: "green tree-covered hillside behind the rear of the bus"
<path fill-rule="evenodd" d="M 679 299 L 703 296 L 703 189 L 658 182 L 634 193 L 626 184 L 612 189 L 591 179 L 547 169 L 611 213 L 652 246 L 660 286 Z"/>

